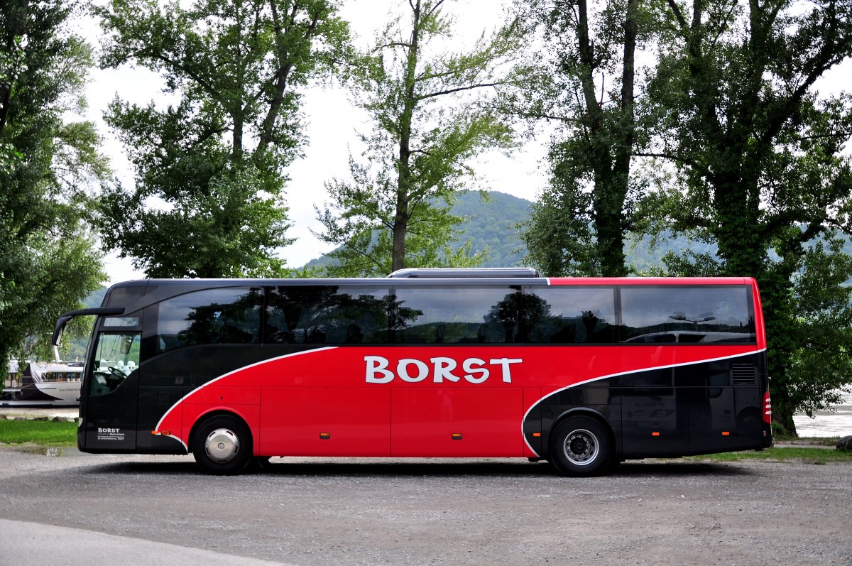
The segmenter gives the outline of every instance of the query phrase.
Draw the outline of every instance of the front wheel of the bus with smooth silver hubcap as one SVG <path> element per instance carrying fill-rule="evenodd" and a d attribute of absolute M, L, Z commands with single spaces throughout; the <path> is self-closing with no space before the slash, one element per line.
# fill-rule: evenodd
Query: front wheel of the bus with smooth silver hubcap
<path fill-rule="evenodd" d="M 249 427 L 236 417 L 219 415 L 205 420 L 193 436 L 193 456 L 204 472 L 233 476 L 252 459 Z"/>

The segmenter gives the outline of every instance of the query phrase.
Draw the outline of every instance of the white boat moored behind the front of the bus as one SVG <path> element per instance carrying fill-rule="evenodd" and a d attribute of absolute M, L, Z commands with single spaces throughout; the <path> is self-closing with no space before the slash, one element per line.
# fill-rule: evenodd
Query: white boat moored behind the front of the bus
<path fill-rule="evenodd" d="M 82 363 L 32 361 L 20 376 L 20 387 L 3 390 L 0 407 L 75 407 L 82 377 Z"/>

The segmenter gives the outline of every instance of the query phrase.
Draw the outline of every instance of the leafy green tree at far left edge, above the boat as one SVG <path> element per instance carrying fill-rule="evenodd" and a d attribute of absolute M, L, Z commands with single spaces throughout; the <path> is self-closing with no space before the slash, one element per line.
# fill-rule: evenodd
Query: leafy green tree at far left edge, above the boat
<path fill-rule="evenodd" d="M 67 30 L 75 5 L 0 5 L 0 367 L 49 355 L 54 322 L 104 278 L 86 228 L 89 189 L 103 182 L 83 109 L 91 49 Z M 5 371 L 5 370 L 3 370 Z"/>

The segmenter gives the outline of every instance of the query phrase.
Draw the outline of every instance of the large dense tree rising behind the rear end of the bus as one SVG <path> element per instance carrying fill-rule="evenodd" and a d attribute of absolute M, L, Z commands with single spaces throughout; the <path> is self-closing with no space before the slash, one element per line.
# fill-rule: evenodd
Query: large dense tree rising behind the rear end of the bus
<path fill-rule="evenodd" d="M 653 195 L 645 210 L 661 221 L 657 229 L 717 244 L 717 258 L 701 258 L 705 269 L 757 278 L 774 420 L 792 432 L 793 413 L 809 406 L 799 393 L 816 379 L 797 367 L 813 358 L 797 344 L 803 328 L 794 275 L 807 267 L 815 237 L 852 229 L 852 167 L 841 153 L 852 135 L 852 98 L 815 90 L 820 76 L 852 55 L 850 12 L 834 0 L 716 0 L 690 10 L 669 0 L 672 41 L 660 43 L 651 84 L 667 125 L 653 155 L 669 160 L 681 183 Z M 829 343 L 809 344 L 813 355 L 835 354 Z"/>

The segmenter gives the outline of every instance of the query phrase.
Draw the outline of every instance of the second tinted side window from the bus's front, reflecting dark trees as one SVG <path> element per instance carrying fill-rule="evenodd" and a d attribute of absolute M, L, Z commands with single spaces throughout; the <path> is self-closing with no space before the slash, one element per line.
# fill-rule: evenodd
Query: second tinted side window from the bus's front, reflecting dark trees
<path fill-rule="evenodd" d="M 387 290 L 357 286 L 268 289 L 264 340 L 270 344 L 383 344 Z"/>

